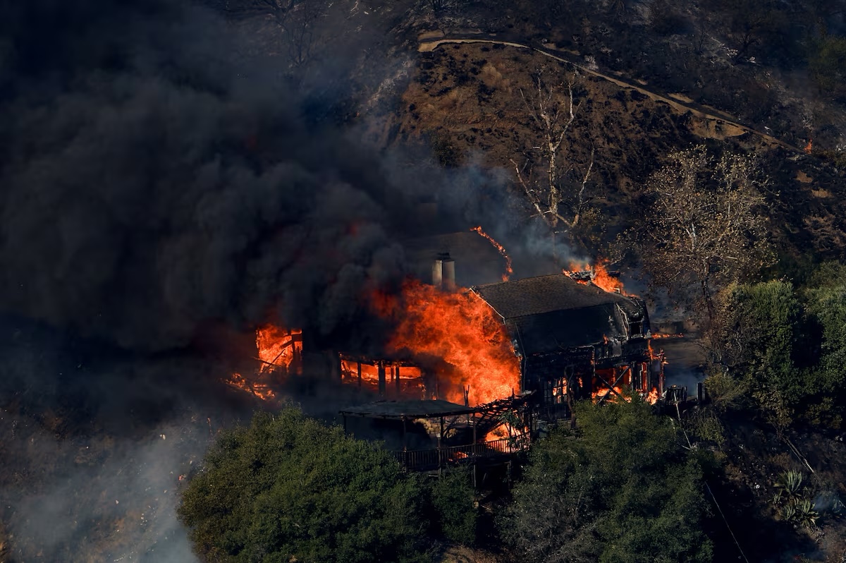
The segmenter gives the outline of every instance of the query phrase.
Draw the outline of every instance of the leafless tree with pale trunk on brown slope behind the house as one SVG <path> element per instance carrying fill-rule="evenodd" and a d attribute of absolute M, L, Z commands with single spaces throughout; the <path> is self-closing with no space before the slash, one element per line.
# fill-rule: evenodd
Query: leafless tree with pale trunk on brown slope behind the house
<path fill-rule="evenodd" d="M 511 163 L 519 185 L 537 214 L 547 221 L 553 232 L 561 225 L 571 232 L 579 225 L 590 200 L 588 182 L 594 151 L 591 149 L 584 174 L 574 175 L 574 165 L 563 160 L 563 153 L 564 141 L 581 105 L 574 101 L 575 77 L 571 76 L 566 84 L 550 86 L 543 74 L 542 69 L 536 73 L 534 92 L 527 95 L 520 90 L 530 126 L 539 135 L 540 146 L 531 147 L 524 163 L 519 164 L 513 158 Z"/>

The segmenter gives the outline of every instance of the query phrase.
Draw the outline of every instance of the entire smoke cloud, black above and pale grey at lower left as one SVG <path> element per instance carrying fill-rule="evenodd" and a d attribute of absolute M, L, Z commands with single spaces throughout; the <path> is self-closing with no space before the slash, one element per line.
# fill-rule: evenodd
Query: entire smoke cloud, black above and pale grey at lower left
<path fill-rule="evenodd" d="M 349 53 L 292 83 L 187 1 L 2 13 L 0 534 L 20 560 L 193 560 L 179 475 L 249 417 L 198 341 L 365 333 L 361 297 L 409 270 L 399 240 L 508 231 L 515 203 L 496 173 L 327 124 Z"/>

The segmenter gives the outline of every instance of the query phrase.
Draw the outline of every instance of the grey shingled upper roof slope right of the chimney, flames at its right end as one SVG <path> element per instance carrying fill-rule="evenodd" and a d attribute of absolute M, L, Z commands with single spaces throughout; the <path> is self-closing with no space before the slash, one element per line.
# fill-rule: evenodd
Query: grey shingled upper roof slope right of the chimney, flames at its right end
<path fill-rule="evenodd" d="M 564 273 L 476 285 L 470 290 L 503 320 L 612 303 L 631 317 L 639 317 L 645 311 L 645 304 L 636 297 L 610 293 L 593 284 L 580 284 Z"/>

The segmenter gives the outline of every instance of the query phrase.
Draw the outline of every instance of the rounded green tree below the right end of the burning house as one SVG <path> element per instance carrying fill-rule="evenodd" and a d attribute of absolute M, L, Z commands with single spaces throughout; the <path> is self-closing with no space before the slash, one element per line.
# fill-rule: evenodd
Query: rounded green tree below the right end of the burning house
<path fill-rule="evenodd" d="M 574 408 L 576 432 L 535 444 L 499 521 L 525 560 L 544 563 L 709 561 L 700 531 L 702 464 L 642 400 Z"/>

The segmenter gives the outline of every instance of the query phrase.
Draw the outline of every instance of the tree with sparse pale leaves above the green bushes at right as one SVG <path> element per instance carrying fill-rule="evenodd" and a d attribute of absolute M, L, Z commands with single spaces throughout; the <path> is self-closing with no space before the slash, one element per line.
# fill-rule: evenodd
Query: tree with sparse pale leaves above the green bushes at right
<path fill-rule="evenodd" d="M 705 146 L 673 152 L 651 176 L 653 203 L 636 244 L 652 283 L 699 302 L 714 317 L 715 290 L 755 273 L 770 257 L 761 189 L 766 178 L 754 157 Z"/>

